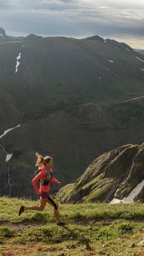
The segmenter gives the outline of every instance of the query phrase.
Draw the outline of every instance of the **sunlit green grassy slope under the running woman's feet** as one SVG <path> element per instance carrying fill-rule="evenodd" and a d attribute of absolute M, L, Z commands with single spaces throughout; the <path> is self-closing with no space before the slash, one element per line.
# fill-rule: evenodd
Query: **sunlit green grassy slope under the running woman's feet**
<path fill-rule="evenodd" d="M 1 255 L 143 255 L 143 247 L 137 246 L 143 240 L 141 204 L 60 205 L 66 227 L 57 227 L 49 205 L 18 217 L 21 204 L 38 201 L 0 198 Z"/>

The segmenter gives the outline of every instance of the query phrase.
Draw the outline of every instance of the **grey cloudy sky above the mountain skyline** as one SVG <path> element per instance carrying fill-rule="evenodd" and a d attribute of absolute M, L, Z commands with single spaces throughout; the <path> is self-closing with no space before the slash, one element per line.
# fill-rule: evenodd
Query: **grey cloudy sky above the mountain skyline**
<path fill-rule="evenodd" d="M 0 0 L 7 35 L 100 35 L 144 49 L 143 0 Z"/>

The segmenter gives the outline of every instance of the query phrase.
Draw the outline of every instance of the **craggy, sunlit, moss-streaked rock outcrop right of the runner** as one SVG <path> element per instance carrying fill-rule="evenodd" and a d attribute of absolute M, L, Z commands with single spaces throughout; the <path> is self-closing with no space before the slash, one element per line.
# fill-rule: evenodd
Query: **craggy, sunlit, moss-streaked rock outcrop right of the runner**
<path fill-rule="evenodd" d="M 62 202 L 144 202 L 144 144 L 104 153 L 76 183 L 60 189 Z"/>

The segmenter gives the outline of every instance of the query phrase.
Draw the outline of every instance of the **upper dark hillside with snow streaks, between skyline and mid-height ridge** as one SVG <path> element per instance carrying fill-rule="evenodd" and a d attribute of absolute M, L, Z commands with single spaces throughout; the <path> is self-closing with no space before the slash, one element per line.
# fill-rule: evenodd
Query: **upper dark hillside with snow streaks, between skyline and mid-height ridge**
<path fill-rule="evenodd" d="M 1 87 L 16 100 L 23 120 L 79 104 L 143 95 L 143 55 L 115 40 L 48 37 L 7 42 L 0 43 L 0 55 Z"/>

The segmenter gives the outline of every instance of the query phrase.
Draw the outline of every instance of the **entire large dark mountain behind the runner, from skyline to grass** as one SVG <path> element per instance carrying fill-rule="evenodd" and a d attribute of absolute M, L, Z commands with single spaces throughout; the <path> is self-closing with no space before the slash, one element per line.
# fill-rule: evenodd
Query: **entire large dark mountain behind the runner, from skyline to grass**
<path fill-rule="evenodd" d="M 0 56 L 0 195 L 36 197 L 35 152 L 64 186 L 104 152 L 142 144 L 144 59 L 128 45 L 29 38 L 0 43 Z"/>

